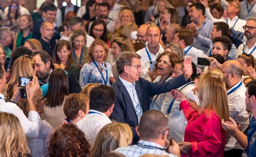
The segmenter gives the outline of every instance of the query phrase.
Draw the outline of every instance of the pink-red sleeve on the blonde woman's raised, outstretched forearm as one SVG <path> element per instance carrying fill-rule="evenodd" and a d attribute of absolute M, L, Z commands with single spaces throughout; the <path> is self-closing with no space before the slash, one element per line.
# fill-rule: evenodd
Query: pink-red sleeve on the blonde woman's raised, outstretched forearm
<path fill-rule="evenodd" d="M 198 114 L 198 111 L 195 111 L 189 104 L 187 100 L 184 100 L 180 104 L 180 111 L 183 111 L 187 121 L 189 122 L 195 115 Z"/>

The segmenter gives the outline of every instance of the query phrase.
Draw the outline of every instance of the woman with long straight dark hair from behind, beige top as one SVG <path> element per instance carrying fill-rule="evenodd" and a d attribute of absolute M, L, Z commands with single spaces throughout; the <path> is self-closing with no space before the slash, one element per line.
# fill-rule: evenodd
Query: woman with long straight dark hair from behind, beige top
<path fill-rule="evenodd" d="M 69 95 L 69 80 L 63 69 L 55 69 L 50 73 L 48 80 L 48 91 L 45 96 L 43 113 L 41 118 L 57 128 L 62 125 L 66 115 L 63 111 L 63 105 L 66 96 Z"/>

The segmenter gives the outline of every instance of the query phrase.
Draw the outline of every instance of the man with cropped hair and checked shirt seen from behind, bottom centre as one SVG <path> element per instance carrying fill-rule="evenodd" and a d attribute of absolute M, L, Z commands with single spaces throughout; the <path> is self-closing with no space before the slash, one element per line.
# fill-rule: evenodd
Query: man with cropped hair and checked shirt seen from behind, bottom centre
<path fill-rule="evenodd" d="M 167 139 L 171 131 L 167 128 L 167 118 L 161 111 L 146 111 L 136 126 L 139 142 L 136 145 L 120 147 L 115 152 L 126 157 L 140 157 L 144 154 L 180 157 L 180 148 L 173 139 Z"/>

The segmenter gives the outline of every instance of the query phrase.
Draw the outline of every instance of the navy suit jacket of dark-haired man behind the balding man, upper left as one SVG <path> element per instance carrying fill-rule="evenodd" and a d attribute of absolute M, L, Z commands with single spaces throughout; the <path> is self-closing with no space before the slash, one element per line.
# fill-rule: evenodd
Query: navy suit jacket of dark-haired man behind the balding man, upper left
<path fill-rule="evenodd" d="M 40 20 L 37 20 L 37 22 L 35 22 L 34 28 L 32 31 L 32 38 L 37 39 L 37 40 L 39 40 L 41 38 L 40 27 L 41 27 L 41 24 L 43 21 L 44 21 L 43 18 L 41 18 Z M 59 29 L 57 27 L 55 27 L 53 39 L 59 39 L 59 38 L 60 38 Z"/>

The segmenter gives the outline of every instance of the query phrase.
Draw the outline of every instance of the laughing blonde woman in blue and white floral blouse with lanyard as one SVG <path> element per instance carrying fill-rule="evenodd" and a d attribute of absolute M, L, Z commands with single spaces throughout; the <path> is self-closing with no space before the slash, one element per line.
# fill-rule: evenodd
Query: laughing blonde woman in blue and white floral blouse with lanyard
<path fill-rule="evenodd" d="M 82 66 L 80 71 L 80 86 L 88 83 L 98 83 L 110 86 L 116 80 L 113 77 L 112 66 L 107 62 L 108 46 L 101 40 L 94 40 L 88 49 L 86 60 L 89 62 Z"/>

